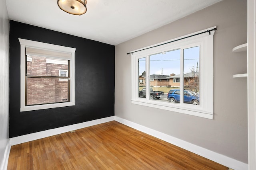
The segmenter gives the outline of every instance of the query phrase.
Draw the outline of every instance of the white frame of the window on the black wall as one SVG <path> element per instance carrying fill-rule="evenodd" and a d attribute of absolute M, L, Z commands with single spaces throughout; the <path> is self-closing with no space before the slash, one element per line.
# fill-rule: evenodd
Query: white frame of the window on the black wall
<path fill-rule="evenodd" d="M 20 111 L 31 111 L 39 109 L 49 109 L 56 107 L 66 107 L 75 105 L 75 48 L 64 47 L 60 45 L 53 45 L 48 43 L 42 43 L 38 41 L 31 41 L 27 39 L 20 39 Z M 42 105 L 33 105 L 25 106 L 25 48 L 32 47 L 35 49 L 45 49 L 50 51 L 62 52 L 62 53 L 71 53 L 71 57 L 65 59 L 70 60 L 70 102 L 63 103 L 53 103 L 53 104 L 42 104 Z M 53 57 L 56 59 L 63 59 L 61 57 Z"/>

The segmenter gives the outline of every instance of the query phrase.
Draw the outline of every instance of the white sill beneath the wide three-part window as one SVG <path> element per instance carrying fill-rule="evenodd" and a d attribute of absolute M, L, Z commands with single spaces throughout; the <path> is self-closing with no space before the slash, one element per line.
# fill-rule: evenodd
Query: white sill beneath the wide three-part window
<path fill-rule="evenodd" d="M 174 106 L 166 106 L 166 104 L 161 104 L 160 102 L 155 102 L 155 101 L 148 101 L 148 100 L 132 100 L 132 104 L 138 104 L 142 106 L 148 106 L 148 107 L 154 107 L 158 109 L 163 109 L 163 110 L 168 110 L 168 111 L 174 111 L 178 113 L 184 113 L 188 115 L 194 115 L 198 117 L 204 117 L 207 119 L 213 119 L 213 114 L 204 112 L 202 110 L 196 110 L 196 109 L 190 109 L 186 107 L 174 107 Z"/>

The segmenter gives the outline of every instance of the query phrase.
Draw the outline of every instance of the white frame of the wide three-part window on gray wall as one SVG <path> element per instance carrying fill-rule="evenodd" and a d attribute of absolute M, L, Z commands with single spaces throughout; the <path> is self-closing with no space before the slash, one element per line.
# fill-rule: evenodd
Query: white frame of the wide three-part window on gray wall
<path fill-rule="evenodd" d="M 188 115 L 194 115 L 198 117 L 204 117 L 208 119 L 213 119 L 213 35 L 215 31 L 210 31 L 202 33 L 199 35 L 195 35 L 186 39 L 182 39 L 184 37 L 188 37 L 190 35 L 194 35 L 197 33 L 201 33 L 204 31 L 208 31 L 214 29 L 215 27 L 211 27 L 208 29 L 204 29 L 201 31 L 197 31 L 195 33 L 191 33 L 188 35 L 184 35 L 182 37 L 177 37 L 175 39 L 171 39 L 162 43 L 158 43 L 152 46 L 148 46 L 142 49 L 137 49 L 131 51 L 132 56 L 132 104 L 138 104 L 142 106 L 155 107 L 158 109 L 164 109 L 169 111 L 174 111 L 178 113 L 184 113 Z M 170 41 L 174 41 L 177 39 L 182 39 L 179 41 L 175 41 L 172 43 L 167 43 Z M 166 43 L 166 44 L 164 44 Z M 164 44 L 164 45 L 160 45 Z M 160 45 L 158 47 L 154 47 Z M 182 47 L 181 53 L 183 53 L 183 49 L 200 46 L 200 105 L 192 105 L 183 103 L 183 98 L 180 97 L 180 104 L 173 104 L 167 102 L 161 102 L 158 100 L 150 100 L 149 88 L 150 88 L 150 55 L 154 55 L 157 53 L 163 53 L 166 51 L 171 51 L 174 49 L 180 49 Z M 141 50 L 141 51 L 139 51 Z M 135 52 L 138 51 L 138 52 Z M 181 55 L 182 56 L 182 55 Z M 146 57 L 146 98 L 138 97 L 138 59 Z M 180 62 L 180 86 L 183 89 L 183 58 L 181 57 Z M 183 96 L 183 91 L 181 90 L 181 96 Z"/>

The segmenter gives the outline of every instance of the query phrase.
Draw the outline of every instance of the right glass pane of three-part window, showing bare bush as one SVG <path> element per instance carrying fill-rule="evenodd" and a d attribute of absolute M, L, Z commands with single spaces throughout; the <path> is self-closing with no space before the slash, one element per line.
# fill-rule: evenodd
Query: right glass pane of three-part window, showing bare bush
<path fill-rule="evenodd" d="M 184 103 L 199 105 L 200 47 L 184 49 Z"/>

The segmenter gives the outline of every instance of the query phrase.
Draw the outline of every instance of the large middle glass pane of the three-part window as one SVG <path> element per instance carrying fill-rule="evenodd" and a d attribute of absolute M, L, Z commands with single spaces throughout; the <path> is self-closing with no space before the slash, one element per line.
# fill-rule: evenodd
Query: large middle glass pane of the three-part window
<path fill-rule="evenodd" d="M 150 55 L 150 100 L 180 102 L 180 95 L 170 90 L 180 90 L 180 49 Z M 174 83 L 175 79 L 175 83 Z"/>

